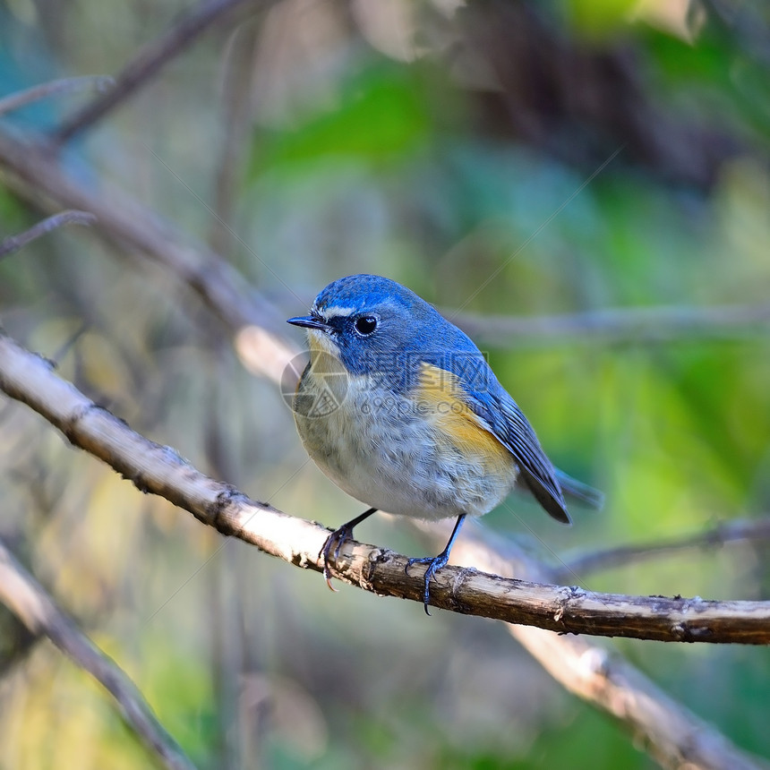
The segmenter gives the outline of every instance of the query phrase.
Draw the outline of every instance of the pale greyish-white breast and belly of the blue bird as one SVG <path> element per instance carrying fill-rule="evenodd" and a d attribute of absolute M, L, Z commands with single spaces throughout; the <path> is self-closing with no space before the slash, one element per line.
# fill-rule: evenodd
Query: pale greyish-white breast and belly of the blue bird
<path fill-rule="evenodd" d="M 308 372 L 295 397 L 304 448 L 340 489 L 372 508 L 428 519 L 481 516 L 508 494 L 517 474 L 512 456 L 491 472 L 483 458 L 441 441 L 408 398 L 369 377 L 346 377 Z"/>

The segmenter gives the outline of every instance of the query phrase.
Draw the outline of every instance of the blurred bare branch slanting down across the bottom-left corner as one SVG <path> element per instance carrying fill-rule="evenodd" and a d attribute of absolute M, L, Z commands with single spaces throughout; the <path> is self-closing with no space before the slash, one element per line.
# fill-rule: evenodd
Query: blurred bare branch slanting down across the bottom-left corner
<path fill-rule="evenodd" d="M 125 722 L 169 770 L 194 770 L 123 670 L 86 637 L 0 540 L 0 602 L 33 634 L 45 634 L 115 697 Z"/>

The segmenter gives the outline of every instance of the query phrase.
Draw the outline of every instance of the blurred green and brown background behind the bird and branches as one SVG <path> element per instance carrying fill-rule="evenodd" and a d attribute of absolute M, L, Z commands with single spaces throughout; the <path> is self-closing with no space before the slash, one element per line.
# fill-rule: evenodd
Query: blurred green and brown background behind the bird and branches
<path fill-rule="evenodd" d="M 4 0 L 0 96 L 116 75 L 192 7 Z M 571 528 L 516 497 L 484 518 L 559 566 L 770 508 L 768 22 L 764 4 L 716 0 L 241 4 L 62 157 L 88 189 L 114 185 L 209 244 L 277 316 L 374 272 L 465 324 L 554 462 L 607 494 Z M 92 96 L 0 128 L 50 136 Z M 0 175 L 0 236 L 40 216 Z M 0 322 L 252 497 L 329 526 L 362 510 L 308 461 L 232 329 L 98 226 L 0 261 Z M 199 766 L 654 766 L 500 624 L 332 595 L 4 398 L 0 431 L 0 534 Z M 385 516 L 356 535 L 435 549 Z M 767 557 L 766 543 L 716 545 L 565 579 L 767 599 Z M 766 648 L 606 646 L 770 756 Z M 0 608 L 0 767 L 148 761 L 109 698 Z"/>

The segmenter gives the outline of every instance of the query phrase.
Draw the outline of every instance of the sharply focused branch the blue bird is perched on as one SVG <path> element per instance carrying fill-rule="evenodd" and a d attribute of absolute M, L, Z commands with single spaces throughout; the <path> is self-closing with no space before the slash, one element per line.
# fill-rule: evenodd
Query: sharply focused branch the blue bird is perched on
<path fill-rule="evenodd" d="M 147 441 L 69 382 L 43 358 L 0 336 L 0 389 L 31 406 L 76 446 L 101 458 L 143 492 L 166 497 L 223 535 L 235 535 L 293 564 L 321 569 L 328 535 L 322 526 L 248 500 L 184 462 L 173 449 Z M 406 575 L 406 557 L 346 543 L 338 577 L 377 594 L 420 601 L 420 577 Z M 770 602 L 707 602 L 699 597 L 589 593 L 444 568 L 432 588 L 442 609 L 560 632 L 661 641 L 770 644 Z"/>

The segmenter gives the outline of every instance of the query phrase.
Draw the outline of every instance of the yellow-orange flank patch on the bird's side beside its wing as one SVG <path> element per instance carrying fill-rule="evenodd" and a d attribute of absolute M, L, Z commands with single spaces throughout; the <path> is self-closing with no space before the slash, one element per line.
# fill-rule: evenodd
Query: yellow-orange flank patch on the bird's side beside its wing
<path fill-rule="evenodd" d="M 480 458 L 491 472 L 509 469 L 513 456 L 467 406 L 454 374 L 423 364 L 415 396 L 418 411 L 438 428 L 440 441 L 446 441 L 467 458 Z"/>

